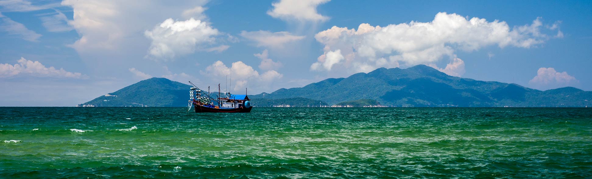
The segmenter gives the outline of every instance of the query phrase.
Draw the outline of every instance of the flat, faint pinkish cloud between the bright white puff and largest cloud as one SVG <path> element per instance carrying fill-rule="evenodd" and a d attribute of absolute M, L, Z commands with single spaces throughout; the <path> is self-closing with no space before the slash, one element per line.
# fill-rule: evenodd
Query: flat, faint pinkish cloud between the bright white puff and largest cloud
<path fill-rule="evenodd" d="M 253 40 L 258 47 L 282 48 L 284 44 L 302 40 L 305 36 L 295 36 L 287 31 L 272 33 L 271 31 L 242 31 L 240 36 Z"/>

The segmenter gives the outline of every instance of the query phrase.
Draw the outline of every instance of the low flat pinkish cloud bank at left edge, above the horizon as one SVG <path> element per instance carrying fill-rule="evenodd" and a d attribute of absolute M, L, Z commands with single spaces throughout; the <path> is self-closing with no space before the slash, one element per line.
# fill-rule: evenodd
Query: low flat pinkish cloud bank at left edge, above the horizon
<path fill-rule="evenodd" d="M 7 78 L 19 74 L 28 74 L 38 77 L 58 77 L 58 78 L 77 78 L 86 79 L 88 76 L 82 73 L 67 72 L 63 68 L 56 69 L 53 66 L 47 68 L 38 61 L 27 60 L 24 57 L 17 60 L 18 64 L 10 65 L 8 63 L 0 63 L 0 78 Z"/>

